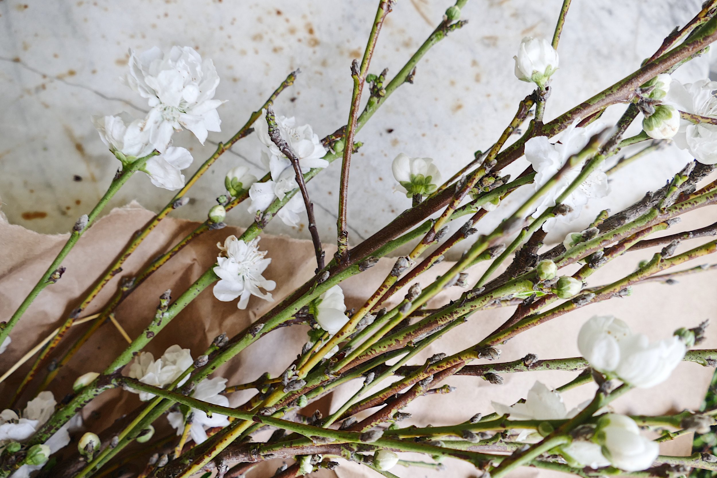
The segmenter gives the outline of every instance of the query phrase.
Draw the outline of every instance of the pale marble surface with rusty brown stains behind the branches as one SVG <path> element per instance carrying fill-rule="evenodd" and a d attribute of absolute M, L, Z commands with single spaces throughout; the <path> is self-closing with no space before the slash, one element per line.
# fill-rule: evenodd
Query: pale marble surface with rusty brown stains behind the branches
<path fill-rule="evenodd" d="M 27 3 L 25 3 L 27 2 Z M 371 71 L 395 73 L 440 21 L 450 1 L 399 0 L 386 19 Z M 699 9 L 699 0 L 576 1 L 569 12 L 546 118 L 554 118 L 632 72 L 675 26 Z M 409 199 L 394 191 L 391 160 L 399 152 L 435 158 L 445 177 L 488 148 L 531 85 L 513 76 L 513 54 L 525 35 L 550 37 L 561 0 L 470 0 L 469 24 L 435 46 L 404 85 L 357 136 L 364 147 L 351 164 L 348 209 L 351 242 L 369 236 Z M 343 125 L 351 97 L 351 60 L 360 57 L 375 14 L 368 0 L 0 0 L 0 200 L 14 224 L 42 232 L 70 229 L 110 183 L 118 162 L 100 141 L 90 115 L 122 110 L 143 115 L 138 95 L 118 81 L 128 48 L 189 45 L 214 59 L 222 79 L 216 97 L 222 133 L 205 145 L 187 132 L 176 145 L 194 154 L 192 173 L 229 138 L 285 75 L 300 67 L 295 86 L 277 100 L 278 114 L 295 115 L 323 136 Z M 709 59 L 690 62 L 685 79 L 708 75 Z M 607 116 L 619 114 L 614 107 Z M 249 164 L 257 176 L 261 145 L 246 138 L 191 189 L 177 216 L 203 220 L 222 193 L 224 173 Z M 660 186 L 689 158 L 674 148 L 645 159 L 613 180 L 612 194 L 590 204 L 584 222 L 606 204 L 613 210 Z M 522 169 L 525 163 L 516 165 Z M 310 182 L 318 228 L 336 234 L 340 166 Z M 110 206 L 137 199 L 157 210 L 172 193 L 133 177 Z M 240 206 L 231 224 L 247 225 Z M 489 227 L 498 221 L 485 221 Z M 280 221 L 272 233 L 308 238 L 305 227 Z"/>

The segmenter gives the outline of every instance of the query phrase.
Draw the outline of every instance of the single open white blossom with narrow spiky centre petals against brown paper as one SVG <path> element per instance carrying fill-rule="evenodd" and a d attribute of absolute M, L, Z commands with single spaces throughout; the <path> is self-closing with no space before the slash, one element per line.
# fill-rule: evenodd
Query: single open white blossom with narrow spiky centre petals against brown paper
<path fill-rule="evenodd" d="M 214 285 L 214 297 L 222 302 L 240 297 L 239 309 L 247 308 L 252 295 L 273 302 L 270 292 L 261 290 L 274 290 L 276 282 L 262 276 L 271 259 L 265 259 L 267 252 L 259 250 L 260 239 L 257 237 L 250 242 L 244 242 L 236 236 L 229 236 L 224 240 L 224 246 L 217 244 L 222 252 L 217 257 L 218 265 L 214 267 L 214 273 L 221 280 Z"/>

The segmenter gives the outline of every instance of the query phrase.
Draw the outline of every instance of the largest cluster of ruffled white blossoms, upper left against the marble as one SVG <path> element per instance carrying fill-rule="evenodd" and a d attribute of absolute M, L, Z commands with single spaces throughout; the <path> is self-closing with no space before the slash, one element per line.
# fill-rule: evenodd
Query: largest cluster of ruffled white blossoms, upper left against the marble
<path fill-rule="evenodd" d="M 130 72 L 120 78 L 146 98 L 151 110 L 145 118 L 126 113 L 93 117 L 100 138 L 123 163 L 148 158 L 140 171 L 155 186 L 171 191 L 184 186 L 183 169 L 193 161 L 185 148 L 171 146 L 175 131 L 190 130 L 204 144 L 209 131 L 221 131 L 214 100 L 219 76 L 211 59 L 201 59 L 191 47 L 172 47 L 165 54 L 158 47 L 137 54 L 130 50 Z"/>

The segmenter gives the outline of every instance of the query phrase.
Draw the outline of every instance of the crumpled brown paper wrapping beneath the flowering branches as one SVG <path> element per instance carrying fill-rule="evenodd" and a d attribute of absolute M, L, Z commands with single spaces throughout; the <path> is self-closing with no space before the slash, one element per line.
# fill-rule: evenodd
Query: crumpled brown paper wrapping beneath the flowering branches
<path fill-rule="evenodd" d="M 680 229 L 694 229 L 714 221 L 709 211 L 703 209 L 688 215 L 688 219 L 680 224 Z M 3 355 L 0 355 L 0 373 L 16 362 L 24 353 L 42 340 L 54 327 L 57 327 L 77 303 L 92 287 L 95 279 L 115 259 L 120 250 L 130 240 L 134 231 L 141 229 L 153 217 L 151 211 L 143 209 L 133 202 L 120 209 L 114 209 L 108 216 L 97 221 L 82 236 L 75 249 L 63 262 L 67 271 L 55 285 L 47 287 L 34 301 L 22 320 L 11 333 L 12 343 Z M 144 241 L 117 274 L 92 302 L 83 315 L 90 315 L 101 310 L 101 307 L 113 295 L 121 277 L 131 277 L 140 271 L 153 257 L 166 252 L 179 239 L 196 227 L 196 223 L 179 219 L 164 219 Z M 670 230 L 672 233 L 674 230 Z M 219 231 L 210 231 L 195 239 L 164 267 L 155 272 L 145 283 L 133 292 L 116 310 L 116 317 L 130 337 L 135 337 L 151 320 L 158 305 L 158 297 L 164 290 L 171 289 L 172 296 L 178 297 L 191 285 L 199 275 L 210 267 L 217 256 L 216 244 L 223 241 L 229 234 L 240 234 L 241 230 L 227 227 Z M 47 268 L 49 262 L 65 243 L 67 234 L 43 235 L 8 224 L 0 220 L 0 320 L 7 320 L 27 292 L 34 286 L 37 277 Z M 678 252 L 695 247 L 708 239 L 691 241 L 689 246 L 682 245 Z M 701 241 L 701 242 L 700 242 Z M 267 257 L 272 263 L 265 272 L 267 279 L 277 282 L 272 292 L 275 302 L 272 304 L 257 297 L 252 297 L 247 310 L 238 310 L 237 302 L 219 302 L 212 295 L 211 288 L 204 290 L 199 297 L 186 307 L 154 340 L 146 350 L 158 357 L 168 346 L 179 343 L 184 348 L 191 348 L 194 357 L 200 355 L 207 345 L 220 333 L 234 335 L 245 328 L 250 322 L 270 310 L 270 308 L 286 297 L 295 287 L 313 276 L 315 259 L 311 242 L 290 239 L 285 236 L 262 236 L 260 248 L 267 250 Z M 616 259 L 604 270 L 590 277 L 589 285 L 599 285 L 623 277 L 637 266 L 640 259 L 649 258 L 655 250 L 644 250 L 627 254 Z M 327 256 L 333 250 L 327 248 Z M 708 262 L 698 259 L 697 262 L 684 264 L 682 268 Z M 374 291 L 376 285 L 389 272 L 393 259 L 382 259 L 372 269 L 351 277 L 342 283 L 349 308 L 359 307 L 361 302 Z M 441 274 L 450 267 L 450 262 L 437 265 L 420 278 L 423 285 L 429 279 Z M 478 264 L 470 271 L 470 278 L 475 281 L 485 269 Z M 516 360 L 526 353 L 536 353 L 539 358 L 562 358 L 579 355 L 576 348 L 576 336 L 580 326 L 587 318 L 596 314 L 612 313 L 626 320 L 634 330 L 646 333 L 653 340 L 663 338 L 675 328 L 693 327 L 706 318 L 714 318 L 717 310 L 717 295 L 714 293 L 716 274 L 705 272 L 693 274 L 679 279 L 678 285 L 668 286 L 650 283 L 635 286 L 631 297 L 613 299 L 597 305 L 581 308 L 569 315 L 558 317 L 551 322 L 533 328 L 526 333 L 510 340 L 502 347 L 500 360 Z M 460 295 L 461 290 L 452 287 L 442 292 L 429 304 L 432 307 L 445 303 Z M 402 297 L 397 294 L 394 297 Z M 511 313 L 510 310 L 487 310 L 473 315 L 465 325 L 450 331 L 441 340 L 430 345 L 414 363 L 422 363 L 434 353 L 455 353 L 477 343 L 490 333 L 500 322 Z M 67 346 L 85 330 L 89 323 L 73 327 L 60 346 Z M 301 345 L 306 340 L 307 328 L 295 326 L 281 328 L 267 334 L 252 344 L 239 356 L 231 360 L 219 370 L 219 375 L 228 379 L 227 385 L 255 380 L 262 373 L 270 372 L 277 376 L 295 358 Z M 708 330 L 708 340 L 701 348 L 717 346 L 714 338 L 717 334 Z M 121 350 L 126 342 L 111 324 L 105 324 L 77 353 L 70 363 L 62 368 L 56 380 L 50 386 L 58 401 L 72 389 L 77 376 L 89 371 L 101 371 Z M 54 356 L 57 356 L 56 353 Z M 0 383 L 0 397 L 9 401 L 22 377 L 27 373 L 32 360 L 22 366 L 4 383 Z M 640 414 L 663 414 L 680 411 L 683 408 L 697 408 L 713 370 L 695 363 L 682 363 L 670 377 L 670 380 L 649 390 L 636 390 L 614 402 L 615 411 Z M 44 371 L 42 372 L 44 373 Z M 418 398 L 404 411 L 413 414 L 412 419 L 402 424 L 435 426 L 456 424 L 466 421 L 473 414 L 488 414 L 493 411 L 490 401 L 514 403 L 526 395 L 533 381 L 540 380 L 548 386 L 556 387 L 574 378 L 576 373 L 545 371 L 538 373 L 505 374 L 502 386 L 491 385 L 480 378 L 459 376 L 444 383 L 457 387 L 448 396 L 434 395 Z M 326 400 L 308 406 L 308 413 L 313 408 L 323 408 L 326 415 L 338 408 L 343 399 L 348 398 L 360 386 L 359 383 L 348 383 Z M 582 386 L 565 393 L 569 408 L 588 399 L 594 393 L 594 385 Z M 379 388 L 374 388 L 379 390 Z M 252 396 L 255 391 L 242 391 L 230 396 L 232 405 L 237 406 Z M 27 401 L 26 397 L 22 403 Z M 90 406 L 82 411 L 87 429 L 100 431 L 110 425 L 118 416 L 140 405 L 138 396 L 122 390 L 103 393 Z M 364 412 L 366 413 L 366 412 Z M 161 421 L 161 420 L 160 420 Z M 690 436 L 682 437 L 663 446 L 666 454 L 689 454 Z M 416 457 L 414 459 L 426 459 Z M 431 469 L 396 467 L 391 472 L 400 477 L 451 476 L 474 477 L 478 472 L 472 465 L 449 459 L 445 463 L 444 472 Z M 270 476 L 280 462 L 267 462 L 257 467 L 254 476 Z M 326 470 L 322 474 L 331 475 Z M 359 464 L 343 462 L 336 469 L 340 478 L 379 476 L 375 472 Z M 523 468 L 511 476 L 533 477 L 547 476 L 551 473 L 537 469 Z"/>

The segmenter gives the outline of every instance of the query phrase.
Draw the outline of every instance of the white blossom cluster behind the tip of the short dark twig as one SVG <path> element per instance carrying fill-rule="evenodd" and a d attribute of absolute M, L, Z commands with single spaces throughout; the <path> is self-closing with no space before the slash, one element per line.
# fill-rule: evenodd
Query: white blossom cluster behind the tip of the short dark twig
<path fill-rule="evenodd" d="M 253 183 L 249 188 L 249 197 L 252 200 L 249 208 L 250 213 L 263 212 L 272 204 L 275 199 L 284 199 L 287 193 L 298 188 L 296 183 L 296 172 L 289 158 L 279 150 L 269 136 L 269 125 L 266 121 L 266 110 L 262 110 L 262 116 L 254 123 L 257 137 L 266 146 L 262 151 L 262 163 L 271 174 L 270 181 L 265 183 Z M 286 141 L 291 150 L 299 158 L 299 166 L 303 174 L 313 168 L 326 168 L 328 161 L 323 159 L 326 156 L 326 148 L 313 132 L 310 125 L 297 126 L 295 118 L 286 118 L 277 115 L 275 117 L 277 128 L 281 138 Z M 245 188 L 246 186 L 244 186 Z M 305 210 L 303 199 L 296 193 L 277 213 L 284 224 L 298 226 L 300 213 Z"/>

